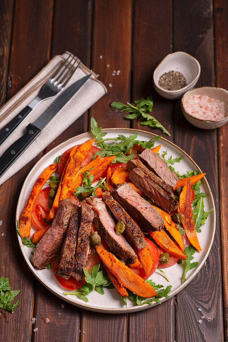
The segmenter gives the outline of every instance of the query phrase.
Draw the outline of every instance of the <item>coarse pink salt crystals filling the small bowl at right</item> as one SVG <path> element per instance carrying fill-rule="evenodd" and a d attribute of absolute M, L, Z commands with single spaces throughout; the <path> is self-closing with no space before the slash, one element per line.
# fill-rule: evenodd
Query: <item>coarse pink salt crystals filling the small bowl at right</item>
<path fill-rule="evenodd" d="M 225 118 L 225 103 L 207 95 L 191 95 L 185 101 L 185 110 L 203 120 L 218 121 Z"/>

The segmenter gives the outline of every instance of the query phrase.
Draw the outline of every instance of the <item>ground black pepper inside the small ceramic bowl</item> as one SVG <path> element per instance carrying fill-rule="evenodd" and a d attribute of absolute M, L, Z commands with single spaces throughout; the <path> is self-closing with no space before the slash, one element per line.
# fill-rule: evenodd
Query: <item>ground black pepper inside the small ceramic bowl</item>
<path fill-rule="evenodd" d="M 178 90 L 187 86 L 186 79 L 179 71 L 170 70 L 160 76 L 158 84 L 165 90 Z"/>

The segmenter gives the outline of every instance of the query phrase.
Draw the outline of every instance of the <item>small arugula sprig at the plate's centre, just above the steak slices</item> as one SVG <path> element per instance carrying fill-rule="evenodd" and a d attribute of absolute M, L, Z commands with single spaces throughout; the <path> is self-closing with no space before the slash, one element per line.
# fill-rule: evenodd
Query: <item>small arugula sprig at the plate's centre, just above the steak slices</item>
<path fill-rule="evenodd" d="M 91 170 L 91 169 L 90 169 Z M 89 170 L 88 170 L 89 171 Z M 95 190 L 97 188 L 103 188 L 105 190 L 108 190 L 108 188 L 106 187 L 106 182 L 105 182 L 105 178 L 100 178 L 99 182 L 96 185 L 92 185 L 93 182 L 93 178 L 94 176 L 89 173 L 88 171 L 84 171 L 83 172 L 83 181 L 82 181 L 82 186 L 78 186 L 75 189 L 75 196 L 82 201 L 82 194 L 85 194 L 86 197 L 88 196 L 96 196 L 95 194 Z"/>

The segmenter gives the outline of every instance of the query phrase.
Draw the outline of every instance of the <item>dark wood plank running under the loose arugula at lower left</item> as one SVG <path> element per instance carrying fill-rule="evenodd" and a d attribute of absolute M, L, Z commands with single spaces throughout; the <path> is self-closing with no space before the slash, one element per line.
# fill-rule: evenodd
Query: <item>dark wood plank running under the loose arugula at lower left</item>
<path fill-rule="evenodd" d="M 32 6 L 30 2 L 15 1 L 9 64 L 10 87 L 8 87 L 7 98 L 24 86 L 49 60 L 51 15 L 52 1 L 42 4 L 37 2 Z M 41 155 L 0 187 L 0 218 L 3 221 L 0 230 L 5 234 L 3 237 L 0 236 L 2 251 L 0 273 L 9 277 L 13 289 L 21 290 L 18 295 L 19 306 L 15 309 L 15 313 L 12 315 L 4 311 L 0 316 L 1 336 L 4 336 L 5 341 L 31 340 L 30 320 L 33 312 L 35 280 L 19 250 L 15 231 L 15 212 L 25 177 Z"/>

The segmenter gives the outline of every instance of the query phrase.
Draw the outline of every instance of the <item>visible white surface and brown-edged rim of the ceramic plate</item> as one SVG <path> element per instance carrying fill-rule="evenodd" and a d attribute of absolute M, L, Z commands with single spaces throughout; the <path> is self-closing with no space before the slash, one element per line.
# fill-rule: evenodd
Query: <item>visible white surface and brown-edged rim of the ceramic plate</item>
<path fill-rule="evenodd" d="M 104 129 L 104 131 L 107 131 L 108 134 L 106 137 L 116 137 L 117 134 L 123 134 L 125 136 L 129 136 L 134 133 L 138 133 L 137 139 L 148 141 L 155 136 L 155 134 L 140 131 L 140 130 L 132 130 L 132 129 Z M 19 216 L 23 210 L 23 208 L 26 205 L 26 202 L 28 200 L 28 197 L 30 195 L 31 189 L 33 184 L 35 183 L 38 176 L 41 174 L 41 172 L 51 163 L 54 162 L 55 157 L 58 155 L 61 155 L 65 150 L 68 148 L 81 144 L 85 142 L 88 139 L 92 138 L 92 134 L 90 132 L 80 134 L 78 136 L 75 136 L 64 143 L 56 146 L 53 148 L 50 152 L 45 154 L 32 168 L 32 170 L 29 172 L 22 190 L 21 194 L 18 199 L 17 204 L 17 211 L 16 211 L 16 220 L 19 219 Z M 161 143 L 161 151 L 167 150 L 167 156 L 173 155 L 177 157 L 182 157 L 182 160 L 179 163 L 176 163 L 175 169 L 180 174 L 186 173 L 188 170 L 195 170 L 202 172 L 199 167 L 196 165 L 196 163 L 179 147 L 174 145 L 173 143 L 167 141 L 164 138 L 161 138 L 159 141 L 155 141 L 155 145 Z M 164 287 L 167 285 L 172 285 L 172 292 L 170 292 L 170 297 L 177 294 L 179 291 L 181 291 L 192 279 L 195 277 L 195 275 L 199 272 L 200 268 L 203 266 L 207 255 L 210 252 L 214 233 L 215 233 L 215 206 L 214 206 L 214 200 L 212 197 L 211 189 L 209 187 L 209 184 L 204 179 L 201 184 L 201 191 L 207 194 L 207 197 L 204 198 L 204 205 L 205 210 L 209 211 L 211 208 L 214 208 L 214 210 L 209 214 L 206 224 L 202 227 L 202 232 L 198 234 L 198 239 L 200 242 L 200 246 L 202 248 L 202 252 L 196 252 L 194 254 L 194 261 L 198 261 L 199 264 L 196 268 L 193 268 L 187 273 L 187 280 L 182 283 L 182 276 L 183 276 L 183 266 L 180 264 L 175 264 L 169 268 L 165 269 L 165 273 L 170 278 L 170 282 L 167 282 L 167 280 L 157 271 L 152 274 L 150 278 L 153 279 L 153 281 L 156 282 L 156 284 L 162 284 Z M 31 235 L 35 232 L 35 229 L 31 229 Z M 37 277 L 37 279 L 51 292 L 56 294 L 59 298 L 62 298 L 64 301 L 67 301 L 73 305 L 85 308 L 87 310 L 91 311 L 99 311 L 99 312 L 109 312 L 109 313 L 126 313 L 126 312 L 135 312 L 135 311 L 141 311 L 145 310 L 148 307 L 151 307 L 151 305 L 145 304 L 142 306 L 134 306 L 134 303 L 132 303 L 130 300 L 128 301 L 127 307 L 125 307 L 122 299 L 120 298 L 120 295 L 117 293 L 116 289 L 106 289 L 104 288 L 105 294 L 99 294 L 96 291 L 91 292 L 88 295 L 89 302 L 85 303 L 84 301 L 78 299 L 75 295 L 68 295 L 65 296 L 63 294 L 64 291 L 68 291 L 64 289 L 56 280 L 52 269 L 44 269 L 39 270 L 35 269 L 31 263 L 31 251 L 32 249 L 29 247 L 26 247 L 22 244 L 21 238 L 17 234 L 19 246 L 21 248 L 23 257 L 25 259 L 25 262 L 27 263 L 28 267 L 30 268 L 31 272 Z M 48 295 L 48 293 L 47 293 Z M 165 298 L 163 298 L 161 301 L 164 302 Z M 157 305 L 157 303 L 154 303 L 154 305 Z"/>

